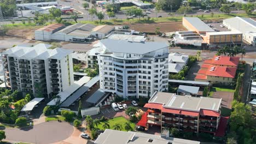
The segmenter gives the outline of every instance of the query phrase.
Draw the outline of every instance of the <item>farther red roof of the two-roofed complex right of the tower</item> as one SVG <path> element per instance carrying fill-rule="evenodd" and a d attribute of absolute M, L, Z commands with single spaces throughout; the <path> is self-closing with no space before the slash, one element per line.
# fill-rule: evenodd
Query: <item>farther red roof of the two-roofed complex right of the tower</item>
<path fill-rule="evenodd" d="M 219 57 L 219 59 L 215 60 L 216 57 Z M 206 61 L 208 62 L 208 60 Z M 214 56 L 212 58 L 211 64 L 237 66 L 238 62 L 239 62 L 239 57 Z"/>

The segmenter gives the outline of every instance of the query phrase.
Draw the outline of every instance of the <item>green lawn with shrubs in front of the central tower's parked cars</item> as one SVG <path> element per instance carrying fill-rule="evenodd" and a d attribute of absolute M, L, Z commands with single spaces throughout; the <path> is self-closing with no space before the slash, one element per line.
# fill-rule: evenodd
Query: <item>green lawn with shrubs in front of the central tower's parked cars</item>
<path fill-rule="evenodd" d="M 107 122 L 109 123 L 109 129 L 114 129 L 115 128 L 114 127 L 115 124 L 120 124 L 120 126 L 121 126 L 120 130 L 128 131 L 128 130 L 125 130 L 125 123 L 129 123 L 132 129 L 135 128 L 135 123 L 129 122 L 124 117 L 115 117 L 113 119 L 109 119 Z M 96 128 L 104 130 L 103 125 L 104 125 L 104 122 L 101 122 L 100 124 L 97 125 Z"/>

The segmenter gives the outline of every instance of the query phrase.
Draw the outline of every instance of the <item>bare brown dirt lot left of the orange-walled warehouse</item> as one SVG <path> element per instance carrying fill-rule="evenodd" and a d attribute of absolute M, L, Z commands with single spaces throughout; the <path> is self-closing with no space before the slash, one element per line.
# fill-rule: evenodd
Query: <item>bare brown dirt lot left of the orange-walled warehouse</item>
<path fill-rule="evenodd" d="M 156 27 L 160 28 L 160 32 L 175 32 L 175 31 L 187 31 L 183 27 L 182 22 L 163 22 L 163 23 L 145 23 L 145 24 L 135 24 L 129 25 L 131 29 L 135 31 L 155 33 Z"/>

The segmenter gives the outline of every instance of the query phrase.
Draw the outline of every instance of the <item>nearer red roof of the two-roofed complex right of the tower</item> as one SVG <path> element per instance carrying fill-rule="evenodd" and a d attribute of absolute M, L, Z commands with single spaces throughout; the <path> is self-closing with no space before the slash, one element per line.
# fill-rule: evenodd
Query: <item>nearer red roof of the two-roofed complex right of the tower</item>
<path fill-rule="evenodd" d="M 236 69 L 236 67 L 215 67 L 214 70 L 207 69 L 206 75 L 234 78 L 236 75 Z"/>

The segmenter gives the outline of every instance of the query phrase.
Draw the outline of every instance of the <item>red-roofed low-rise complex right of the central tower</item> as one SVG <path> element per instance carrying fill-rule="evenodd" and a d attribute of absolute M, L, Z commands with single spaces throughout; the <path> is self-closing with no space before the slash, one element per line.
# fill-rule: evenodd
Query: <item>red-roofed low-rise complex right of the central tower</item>
<path fill-rule="evenodd" d="M 239 57 L 214 56 L 203 62 L 195 81 L 228 84 L 234 82 Z"/>

